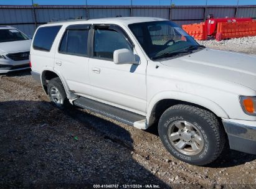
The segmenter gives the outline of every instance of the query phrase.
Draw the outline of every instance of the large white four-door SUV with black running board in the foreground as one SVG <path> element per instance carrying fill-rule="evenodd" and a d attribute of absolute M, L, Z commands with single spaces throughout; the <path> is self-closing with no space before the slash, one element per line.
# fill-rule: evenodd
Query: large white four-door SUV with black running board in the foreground
<path fill-rule="evenodd" d="M 201 46 L 166 19 L 40 25 L 31 64 L 59 108 L 71 103 L 139 129 L 157 124 L 184 162 L 211 163 L 225 141 L 256 154 L 256 57 Z"/>

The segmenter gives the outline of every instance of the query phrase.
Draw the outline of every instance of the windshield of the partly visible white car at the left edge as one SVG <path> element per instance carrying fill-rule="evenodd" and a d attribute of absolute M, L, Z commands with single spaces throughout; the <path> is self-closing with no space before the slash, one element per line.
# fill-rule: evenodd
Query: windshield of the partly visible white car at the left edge
<path fill-rule="evenodd" d="M 0 43 L 12 42 L 16 40 L 28 40 L 29 37 L 16 29 L 0 29 Z"/>

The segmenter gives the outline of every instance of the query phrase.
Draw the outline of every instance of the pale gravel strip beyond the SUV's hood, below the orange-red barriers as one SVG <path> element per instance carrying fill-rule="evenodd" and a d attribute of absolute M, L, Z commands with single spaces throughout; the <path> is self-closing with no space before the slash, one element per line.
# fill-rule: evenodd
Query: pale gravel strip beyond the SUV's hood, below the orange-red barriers
<path fill-rule="evenodd" d="M 256 54 L 256 36 L 221 40 L 219 42 L 215 39 L 199 40 L 198 42 L 210 48 Z"/>

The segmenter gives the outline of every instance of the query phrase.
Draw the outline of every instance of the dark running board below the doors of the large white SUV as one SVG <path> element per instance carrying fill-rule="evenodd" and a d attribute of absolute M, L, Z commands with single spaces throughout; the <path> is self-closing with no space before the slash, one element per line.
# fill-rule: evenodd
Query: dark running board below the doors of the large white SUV
<path fill-rule="evenodd" d="M 115 106 L 110 106 L 108 104 L 100 103 L 93 99 L 88 99 L 80 96 L 79 98 L 73 101 L 75 106 L 80 108 L 88 109 L 94 113 L 102 114 L 116 121 L 123 122 L 130 126 L 135 126 L 138 129 L 146 128 L 146 117 L 141 116 L 140 114 L 132 113 L 125 109 L 116 108 Z"/>

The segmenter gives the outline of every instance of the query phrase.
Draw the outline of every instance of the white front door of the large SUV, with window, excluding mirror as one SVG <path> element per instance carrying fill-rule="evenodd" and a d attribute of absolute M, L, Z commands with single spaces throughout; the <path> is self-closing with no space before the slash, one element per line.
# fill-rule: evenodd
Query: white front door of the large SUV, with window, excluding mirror
<path fill-rule="evenodd" d="M 103 103 L 145 115 L 147 62 L 140 61 L 125 33 L 100 26 L 96 26 L 92 32 L 89 76 L 93 97 Z M 113 52 L 121 48 L 132 50 L 140 65 L 116 65 Z"/>

